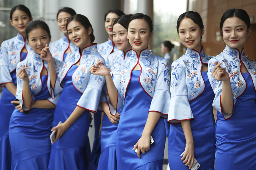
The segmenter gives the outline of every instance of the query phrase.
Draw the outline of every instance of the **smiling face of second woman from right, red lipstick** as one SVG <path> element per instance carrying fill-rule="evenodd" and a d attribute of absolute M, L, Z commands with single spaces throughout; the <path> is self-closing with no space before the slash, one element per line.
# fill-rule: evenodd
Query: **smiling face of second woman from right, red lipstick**
<path fill-rule="evenodd" d="M 201 51 L 201 37 L 204 35 L 204 27 L 201 29 L 190 18 L 183 18 L 179 24 L 179 39 L 189 49 Z"/>

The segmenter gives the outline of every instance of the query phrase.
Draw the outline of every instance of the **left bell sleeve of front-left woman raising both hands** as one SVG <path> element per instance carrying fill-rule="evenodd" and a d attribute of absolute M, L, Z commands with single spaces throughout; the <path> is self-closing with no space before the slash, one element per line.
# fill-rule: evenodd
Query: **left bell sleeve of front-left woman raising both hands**
<path fill-rule="evenodd" d="M 22 64 L 25 64 L 23 62 L 18 63 L 16 67 L 16 78 L 17 78 L 17 91 L 16 91 L 16 99 L 20 101 L 20 105 L 24 111 L 30 111 L 31 108 L 26 108 L 23 106 L 23 95 L 22 95 L 22 89 L 23 89 L 23 80 L 18 77 L 17 72 L 22 68 Z M 26 65 L 26 64 L 25 64 Z M 31 87 L 30 87 L 30 93 L 31 93 Z M 30 104 L 30 107 L 32 103 L 35 101 L 35 97 L 31 93 L 32 101 Z"/>

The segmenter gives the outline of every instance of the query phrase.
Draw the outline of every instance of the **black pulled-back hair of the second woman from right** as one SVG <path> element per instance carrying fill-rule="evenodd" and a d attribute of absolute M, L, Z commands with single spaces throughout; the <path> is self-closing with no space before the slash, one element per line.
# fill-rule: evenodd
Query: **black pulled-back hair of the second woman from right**
<path fill-rule="evenodd" d="M 203 25 L 203 20 L 201 18 L 201 16 L 199 15 L 199 13 L 195 12 L 195 11 L 187 11 L 184 12 L 183 14 L 181 14 L 177 20 L 177 32 L 179 33 L 179 24 L 181 22 L 181 20 L 183 20 L 184 18 L 190 18 L 195 24 L 199 25 L 200 29 L 202 30 L 203 27 L 205 27 Z M 202 36 L 201 36 L 202 39 Z"/>

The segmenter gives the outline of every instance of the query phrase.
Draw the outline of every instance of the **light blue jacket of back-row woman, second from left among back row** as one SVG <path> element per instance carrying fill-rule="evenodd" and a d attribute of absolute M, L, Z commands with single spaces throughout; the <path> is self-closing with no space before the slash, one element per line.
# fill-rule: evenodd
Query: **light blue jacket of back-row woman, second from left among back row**
<path fill-rule="evenodd" d="M 76 47 L 67 37 L 64 35 L 63 38 L 52 42 L 50 44 L 50 52 L 53 58 L 57 58 L 60 61 L 63 61 L 64 59 L 64 53 L 67 51 L 67 49 L 70 48 L 71 52 L 78 51 L 79 48 Z M 65 62 L 65 61 L 63 61 Z"/>

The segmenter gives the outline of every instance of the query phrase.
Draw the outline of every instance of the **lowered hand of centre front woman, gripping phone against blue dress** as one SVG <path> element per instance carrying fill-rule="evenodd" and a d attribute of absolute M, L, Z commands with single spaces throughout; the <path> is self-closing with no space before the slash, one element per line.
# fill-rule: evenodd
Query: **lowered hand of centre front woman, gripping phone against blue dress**
<path fill-rule="evenodd" d="M 133 150 L 137 148 L 137 156 L 141 158 L 140 152 L 145 154 L 150 150 L 150 135 L 142 135 L 139 141 L 133 146 Z"/>

